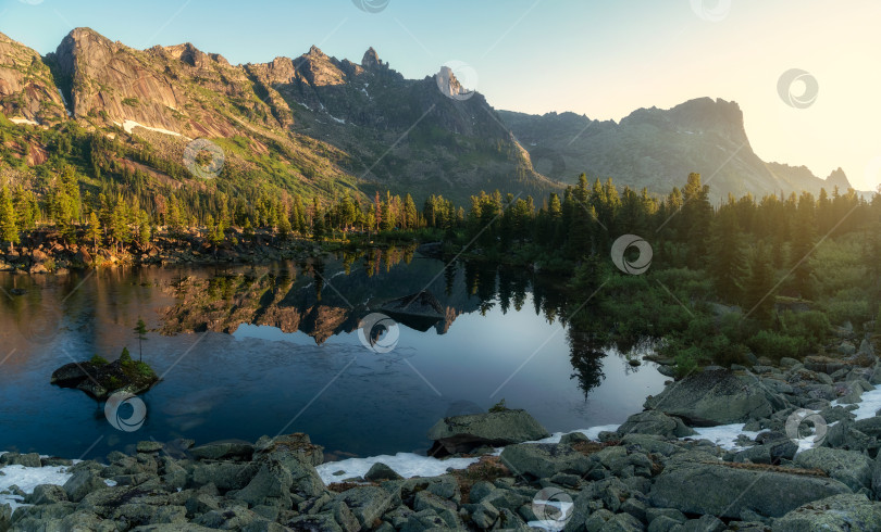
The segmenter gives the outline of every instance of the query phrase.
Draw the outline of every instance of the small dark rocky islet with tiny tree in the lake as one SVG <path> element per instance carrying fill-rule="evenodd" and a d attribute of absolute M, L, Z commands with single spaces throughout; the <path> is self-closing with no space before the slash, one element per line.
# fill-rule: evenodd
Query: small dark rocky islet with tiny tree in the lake
<path fill-rule="evenodd" d="M 116 392 L 144 393 L 159 382 L 159 377 L 146 363 L 133 360 L 128 350 L 124 349 L 120 358 L 113 362 L 95 355 L 88 362 L 66 364 L 52 373 L 50 382 L 82 390 L 103 401 Z"/>

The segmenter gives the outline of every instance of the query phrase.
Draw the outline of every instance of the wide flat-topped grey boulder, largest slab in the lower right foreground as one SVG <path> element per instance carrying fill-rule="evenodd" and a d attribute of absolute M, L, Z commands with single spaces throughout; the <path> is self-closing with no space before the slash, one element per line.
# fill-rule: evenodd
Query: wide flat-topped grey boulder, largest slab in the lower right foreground
<path fill-rule="evenodd" d="M 744 469 L 722 463 L 668 464 L 648 494 L 652 505 L 684 514 L 737 519 L 744 511 L 783 517 L 811 501 L 851 494 L 827 478 Z"/>

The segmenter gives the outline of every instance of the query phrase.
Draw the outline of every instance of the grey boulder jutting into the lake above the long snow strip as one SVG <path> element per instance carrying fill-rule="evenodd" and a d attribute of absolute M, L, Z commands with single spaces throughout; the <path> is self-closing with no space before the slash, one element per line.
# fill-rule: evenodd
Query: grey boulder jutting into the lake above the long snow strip
<path fill-rule="evenodd" d="M 429 430 L 429 439 L 449 454 L 468 453 L 483 445 L 498 447 L 541 440 L 549 435 L 525 410 L 448 417 Z"/>

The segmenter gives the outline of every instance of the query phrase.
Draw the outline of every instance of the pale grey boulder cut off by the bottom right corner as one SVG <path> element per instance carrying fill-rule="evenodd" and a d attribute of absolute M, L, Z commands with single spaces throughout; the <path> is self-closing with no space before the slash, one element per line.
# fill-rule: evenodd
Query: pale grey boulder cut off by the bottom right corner
<path fill-rule="evenodd" d="M 881 503 L 866 495 L 835 495 L 798 507 L 774 521 L 773 532 L 881 530 Z"/>

